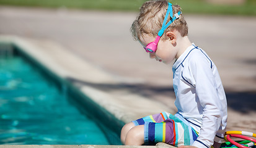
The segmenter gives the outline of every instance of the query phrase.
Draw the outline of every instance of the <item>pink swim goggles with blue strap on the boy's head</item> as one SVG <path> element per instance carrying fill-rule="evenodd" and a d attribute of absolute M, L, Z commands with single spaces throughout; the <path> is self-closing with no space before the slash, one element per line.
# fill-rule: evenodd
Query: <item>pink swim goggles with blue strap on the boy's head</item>
<path fill-rule="evenodd" d="M 167 21 L 167 18 L 169 17 L 169 14 L 170 14 L 170 17 L 172 19 L 170 19 L 170 21 L 168 23 L 166 23 Z M 155 39 L 155 41 L 149 43 L 146 47 L 144 47 L 144 49 L 146 50 L 146 52 L 156 52 L 156 49 L 157 49 L 157 44 L 162 36 L 162 34 L 164 34 L 164 30 L 166 30 L 167 27 L 169 27 L 169 25 L 174 22 L 174 20 L 178 19 L 180 14 L 182 14 L 182 12 L 179 10 L 178 13 L 176 14 L 172 14 L 172 4 L 170 2 L 168 2 L 168 9 L 167 9 L 167 12 L 166 12 L 166 16 L 164 17 L 164 22 L 162 23 L 162 28 L 161 30 L 158 32 L 157 34 L 157 37 Z M 174 16 L 174 17 L 172 17 Z"/>

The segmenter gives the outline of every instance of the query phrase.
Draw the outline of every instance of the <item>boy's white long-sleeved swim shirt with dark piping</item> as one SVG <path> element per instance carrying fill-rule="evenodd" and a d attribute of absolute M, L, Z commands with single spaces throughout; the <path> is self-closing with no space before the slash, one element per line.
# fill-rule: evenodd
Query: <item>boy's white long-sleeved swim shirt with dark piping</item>
<path fill-rule="evenodd" d="M 178 113 L 199 133 L 196 147 L 221 142 L 227 124 L 227 102 L 221 78 L 205 51 L 192 44 L 174 63 L 173 83 Z"/>

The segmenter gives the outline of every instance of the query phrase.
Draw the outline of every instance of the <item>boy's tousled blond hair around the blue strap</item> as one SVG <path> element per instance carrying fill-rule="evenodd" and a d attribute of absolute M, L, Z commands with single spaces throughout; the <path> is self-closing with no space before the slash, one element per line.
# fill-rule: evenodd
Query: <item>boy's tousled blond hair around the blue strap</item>
<path fill-rule="evenodd" d="M 168 9 L 167 0 L 159 1 L 146 1 L 143 6 L 139 9 L 139 14 L 136 20 L 131 25 L 131 33 L 135 40 L 138 40 L 143 35 L 151 35 L 156 37 L 159 30 L 161 30 L 162 23 L 164 22 L 164 17 Z M 172 12 L 176 14 L 179 12 L 179 5 L 172 5 Z M 173 16 L 171 16 L 173 17 Z M 170 21 L 170 16 L 167 22 Z M 188 35 L 187 22 L 185 21 L 182 14 L 180 14 L 179 19 L 175 20 L 170 24 L 170 26 L 164 31 L 177 30 L 182 36 Z M 162 36 L 161 39 L 167 39 L 167 36 Z"/>

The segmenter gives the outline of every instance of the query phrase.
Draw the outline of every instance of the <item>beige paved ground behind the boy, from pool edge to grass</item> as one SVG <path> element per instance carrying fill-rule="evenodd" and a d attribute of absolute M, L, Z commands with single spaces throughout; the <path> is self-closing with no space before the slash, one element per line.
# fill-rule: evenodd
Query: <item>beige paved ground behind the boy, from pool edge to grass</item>
<path fill-rule="evenodd" d="M 188 37 L 218 67 L 227 96 L 227 130 L 256 133 L 256 17 L 184 16 Z M 123 110 L 117 116 L 128 122 L 159 110 L 176 110 L 171 65 L 149 59 L 133 41 L 130 26 L 135 17 L 134 12 L 0 6 L 0 35 L 15 36 L 54 55 L 57 64 L 49 63 L 57 73 L 83 85 L 81 89 L 94 97 L 108 96 L 110 101 L 99 99 L 102 105 L 123 104 L 112 110 Z M 58 70 L 58 64 L 70 71 Z M 157 107 L 145 109 L 144 102 Z"/>

